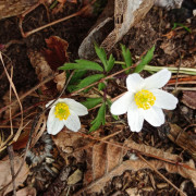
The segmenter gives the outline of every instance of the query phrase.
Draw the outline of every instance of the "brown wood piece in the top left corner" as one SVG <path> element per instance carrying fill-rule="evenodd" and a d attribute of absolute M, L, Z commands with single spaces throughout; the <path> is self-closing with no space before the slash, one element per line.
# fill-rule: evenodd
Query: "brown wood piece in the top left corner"
<path fill-rule="evenodd" d="M 0 20 L 20 15 L 39 0 L 0 0 Z"/>

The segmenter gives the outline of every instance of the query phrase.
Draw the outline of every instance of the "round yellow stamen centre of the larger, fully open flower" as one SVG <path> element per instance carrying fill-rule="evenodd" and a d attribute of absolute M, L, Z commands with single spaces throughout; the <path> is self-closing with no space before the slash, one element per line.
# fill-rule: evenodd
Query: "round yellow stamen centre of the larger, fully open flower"
<path fill-rule="evenodd" d="M 154 96 L 154 94 L 146 89 L 137 91 L 134 96 L 134 99 L 137 107 L 143 108 L 144 110 L 148 110 L 149 108 L 151 108 L 151 106 L 154 106 L 156 101 L 156 97 Z"/>

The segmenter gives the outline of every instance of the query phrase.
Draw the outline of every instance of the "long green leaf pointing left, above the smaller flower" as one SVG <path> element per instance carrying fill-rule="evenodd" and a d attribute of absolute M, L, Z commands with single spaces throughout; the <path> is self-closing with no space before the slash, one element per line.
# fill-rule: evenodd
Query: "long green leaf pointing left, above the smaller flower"
<path fill-rule="evenodd" d="M 75 60 L 76 63 L 65 63 L 59 70 L 95 70 L 103 72 L 103 69 L 96 62 L 87 60 Z"/>

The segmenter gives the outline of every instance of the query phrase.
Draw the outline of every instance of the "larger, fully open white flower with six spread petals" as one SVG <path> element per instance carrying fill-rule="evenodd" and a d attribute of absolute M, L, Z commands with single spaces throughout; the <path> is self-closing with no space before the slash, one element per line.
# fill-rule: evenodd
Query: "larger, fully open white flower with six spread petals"
<path fill-rule="evenodd" d="M 139 132 L 144 120 L 152 126 L 164 123 L 162 109 L 173 110 L 177 99 L 159 88 L 163 87 L 171 77 L 171 72 L 163 69 L 156 74 L 143 78 L 134 73 L 127 76 L 127 91 L 111 106 L 114 115 L 127 112 L 127 121 L 132 132 Z"/>

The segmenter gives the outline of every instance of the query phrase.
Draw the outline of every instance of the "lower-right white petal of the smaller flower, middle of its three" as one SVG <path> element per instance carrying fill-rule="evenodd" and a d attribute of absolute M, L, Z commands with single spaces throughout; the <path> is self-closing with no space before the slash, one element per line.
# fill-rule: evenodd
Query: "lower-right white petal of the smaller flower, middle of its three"
<path fill-rule="evenodd" d="M 66 120 L 64 120 L 64 124 L 69 130 L 73 132 L 77 132 L 81 128 L 79 118 L 73 111 L 70 111 L 70 112 L 71 114 L 69 115 Z"/>

